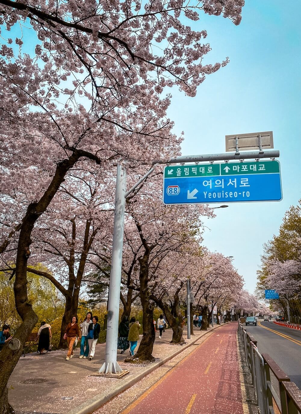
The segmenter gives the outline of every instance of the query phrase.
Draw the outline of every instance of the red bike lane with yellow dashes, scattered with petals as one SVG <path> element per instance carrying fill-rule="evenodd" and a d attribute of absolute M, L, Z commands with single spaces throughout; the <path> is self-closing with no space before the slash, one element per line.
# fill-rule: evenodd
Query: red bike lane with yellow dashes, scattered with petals
<path fill-rule="evenodd" d="M 243 414 L 236 332 L 216 330 L 122 414 Z"/>

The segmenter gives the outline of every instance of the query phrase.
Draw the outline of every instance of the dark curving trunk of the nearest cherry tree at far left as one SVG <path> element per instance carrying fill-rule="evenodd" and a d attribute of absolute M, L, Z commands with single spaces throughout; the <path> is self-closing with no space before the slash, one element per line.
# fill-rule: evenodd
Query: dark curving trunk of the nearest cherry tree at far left
<path fill-rule="evenodd" d="M 89 158 L 94 159 L 94 161 L 100 164 L 99 159 L 92 154 L 88 154 L 82 150 L 74 150 L 68 159 L 58 163 L 49 187 L 38 202 L 33 202 L 28 206 L 20 226 L 14 279 L 16 309 L 22 318 L 22 324 L 15 332 L 14 338 L 20 341 L 20 347 L 17 351 L 13 351 L 6 344 L 0 351 L 0 414 L 11 414 L 13 412 L 8 402 L 7 381 L 22 354 L 22 348 L 26 338 L 38 321 L 38 317 L 32 309 L 27 296 L 26 276 L 27 261 L 30 256 L 30 245 L 32 243 L 31 233 L 37 219 L 46 211 L 61 183 L 63 183 L 67 171 L 76 164 L 81 156 L 89 156 Z"/>

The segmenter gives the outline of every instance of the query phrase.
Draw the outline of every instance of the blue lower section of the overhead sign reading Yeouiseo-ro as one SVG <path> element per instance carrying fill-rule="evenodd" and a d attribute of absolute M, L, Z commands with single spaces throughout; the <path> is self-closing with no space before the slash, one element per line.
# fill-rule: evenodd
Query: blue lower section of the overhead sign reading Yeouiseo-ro
<path fill-rule="evenodd" d="M 226 167 L 222 169 L 224 165 Z M 184 173 L 182 174 L 182 171 L 179 171 L 181 176 L 175 177 L 176 171 L 180 170 L 180 168 L 176 169 L 177 166 L 173 169 L 165 167 L 166 172 L 164 171 L 163 180 L 164 204 L 209 204 L 282 200 L 280 169 L 272 173 L 265 173 L 264 171 L 258 173 L 258 171 L 255 171 L 252 174 L 241 174 L 241 171 L 239 171 L 238 174 L 225 176 L 224 174 L 230 171 L 227 170 L 225 172 L 224 169 L 229 168 L 230 170 L 231 164 L 224 165 L 219 165 L 221 172 L 217 175 L 214 171 L 216 174 L 214 176 L 191 176 L 190 171 L 187 173 L 189 176 L 183 176 Z M 278 162 L 277 165 L 279 165 Z M 188 168 L 186 169 L 188 170 Z"/>

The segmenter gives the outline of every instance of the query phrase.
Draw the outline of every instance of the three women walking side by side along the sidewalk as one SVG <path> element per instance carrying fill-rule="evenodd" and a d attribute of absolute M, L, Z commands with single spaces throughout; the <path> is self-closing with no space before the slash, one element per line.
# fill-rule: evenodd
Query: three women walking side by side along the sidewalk
<path fill-rule="evenodd" d="M 81 331 L 79 330 L 81 327 Z M 84 321 L 78 326 L 77 317 L 73 316 L 70 323 L 68 323 L 65 329 L 64 339 L 67 339 L 68 351 L 66 361 L 73 358 L 73 345 L 77 344 L 80 339 L 80 354 L 79 358 L 89 359 L 92 361 L 95 354 L 95 347 L 99 338 L 100 325 L 98 323 L 98 317 L 92 315 L 92 312 L 88 312 Z"/>

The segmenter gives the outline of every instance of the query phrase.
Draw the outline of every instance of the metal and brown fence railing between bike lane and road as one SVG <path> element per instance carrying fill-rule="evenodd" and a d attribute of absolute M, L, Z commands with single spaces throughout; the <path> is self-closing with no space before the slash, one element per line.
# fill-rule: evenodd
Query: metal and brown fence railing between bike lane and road
<path fill-rule="evenodd" d="M 258 352 L 257 341 L 238 323 L 259 414 L 301 414 L 301 390 L 268 354 Z M 275 380 L 271 380 L 271 373 Z"/>

